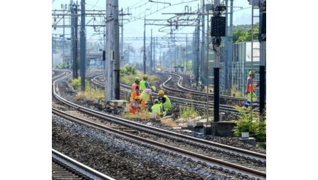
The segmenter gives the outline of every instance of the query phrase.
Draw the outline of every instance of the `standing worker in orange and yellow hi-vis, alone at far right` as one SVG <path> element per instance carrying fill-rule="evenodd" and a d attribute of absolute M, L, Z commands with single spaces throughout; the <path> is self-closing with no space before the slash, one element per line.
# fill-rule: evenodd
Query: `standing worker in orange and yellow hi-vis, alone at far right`
<path fill-rule="evenodd" d="M 255 76 L 255 71 L 251 71 L 251 70 L 248 71 L 248 76 L 246 79 L 246 90 L 245 90 L 245 92 L 247 93 L 247 102 L 245 102 L 244 104 L 245 107 L 250 106 L 251 102 L 254 104 L 254 102 L 256 102 L 257 100 L 255 89 L 256 87 L 259 87 L 259 84 L 254 84 L 253 82 L 254 76 Z"/>

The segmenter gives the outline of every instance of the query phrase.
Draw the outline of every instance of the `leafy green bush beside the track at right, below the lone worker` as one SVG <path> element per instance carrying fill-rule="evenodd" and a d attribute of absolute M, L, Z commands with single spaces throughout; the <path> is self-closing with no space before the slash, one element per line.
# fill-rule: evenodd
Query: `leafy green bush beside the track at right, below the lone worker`
<path fill-rule="evenodd" d="M 238 107 L 238 120 L 233 120 L 236 123 L 234 127 L 234 136 L 241 137 L 242 132 L 249 132 L 250 137 L 254 137 L 257 142 L 266 141 L 266 120 L 259 116 L 259 112 L 251 108 Z"/>

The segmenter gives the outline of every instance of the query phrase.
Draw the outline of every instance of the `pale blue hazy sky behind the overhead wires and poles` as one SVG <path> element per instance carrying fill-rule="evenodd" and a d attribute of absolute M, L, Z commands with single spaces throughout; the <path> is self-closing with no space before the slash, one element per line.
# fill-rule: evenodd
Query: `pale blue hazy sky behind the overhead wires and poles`
<path fill-rule="evenodd" d="M 52 2 L 52 10 L 68 10 L 69 3 L 71 0 L 54 0 Z M 76 1 L 75 1 L 76 2 Z M 80 4 L 80 1 L 77 1 Z M 146 31 L 145 35 L 149 39 L 152 37 L 157 37 L 158 44 L 160 44 L 160 51 L 167 51 L 169 44 L 171 41 L 169 40 L 171 37 L 171 32 L 173 36 L 176 38 L 180 38 L 172 43 L 176 46 L 185 46 L 186 43 L 191 42 L 192 34 L 194 33 L 194 29 L 196 28 L 194 25 L 197 24 L 197 17 L 198 15 L 187 15 L 187 16 L 180 16 L 178 19 L 189 19 L 189 24 L 191 26 L 179 26 L 178 30 L 176 30 L 176 26 L 167 26 L 167 19 L 175 20 L 178 15 L 176 13 L 183 13 L 183 12 L 191 12 L 196 13 L 198 11 L 201 12 L 202 4 L 209 4 L 212 3 L 211 1 L 204 1 L 201 0 L 174 0 L 174 1 L 167 1 L 167 0 L 158 0 L 149 2 L 148 0 L 130 0 L 130 1 L 123 1 L 118 0 L 118 7 L 120 10 L 120 14 L 124 14 L 123 18 L 123 27 L 120 28 L 120 33 L 124 32 L 124 49 L 133 49 L 134 53 L 131 57 L 131 62 L 136 62 L 142 58 L 142 49 L 143 49 L 143 37 L 144 37 L 144 30 Z M 225 4 L 225 1 L 223 1 Z M 227 2 L 227 6 L 230 7 L 230 0 Z M 239 24 L 251 24 L 252 21 L 252 6 L 248 3 L 248 1 L 243 0 L 234 0 L 233 1 L 233 25 Z M 80 8 L 80 6 L 79 6 Z M 96 10 L 95 14 L 98 10 L 105 10 L 106 9 L 106 0 L 91 0 L 86 1 L 86 10 Z M 228 8 L 230 12 L 230 8 Z M 54 12 L 54 11 L 53 11 Z M 67 12 L 67 11 L 66 11 Z M 256 10 L 257 12 L 257 10 Z M 61 11 L 56 13 L 62 13 Z M 101 12 L 103 13 L 103 12 Z M 209 19 L 212 15 L 209 15 Z M 144 27 L 144 18 L 147 19 L 148 24 Z M 230 18 L 230 16 L 229 16 Z M 203 19 L 201 19 L 202 21 Z M 53 19 L 52 19 L 53 21 Z M 63 25 L 62 16 L 59 16 L 56 21 L 58 22 L 59 26 Z M 80 18 L 79 18 L 80 21 Z M 207 17 L 204 19 L 205 21 L 205 30 L 207 32 Z M 185 24 L 186 21 L 181 21 Z M 121 21 L 120 21 L 121 23 Z M 69 19 L 65 19 L 64 24 L 70 24 Z M 86 24 L 95 24 L 95 25 L 104 25 L 104 17 L 86 17 Z M 157 25 L 149 25 L 149 24 L 157 24 Z M 163 24 L 159 26 L 160 24 Z M 202 24 L 202 23 L 200 23 Z M 230 19 L 229 23 L 230 25 Z M 71 37 L 71 29 L 70 28 L 57 28 L 54 30 L 52 28 L 53 37 L 59 37 L 59 35 L 63 35 L 63 30 L 65 33 L 65 37 Z M 202 27 L 201 27 L 202 30 Z M 105 29 L 101 26 L 97 26 L 97 28 L 93 27 L 86 27 L 86 40 L 91 42 L 98 42 L 100 44 L 100 48 L 104 46 L 104 32 Z M 120 34 L 120 37 L 122 34 Z M 201 36 L 201 33 L 200 33 Z M 139 39 L 131 39 L 129 37 L 139 37 Z M 187 42 L 185 42 L 185 38 Z M 146 40 L 146 46 L 150 46 L 150 40 Z M 97 51 L 97 49 L 95 50 Z M 159 52 L 159 51 L 158 51 Z M 159 56 L 160 54 L 157 53 Z M 159 58 L 159 57 L 157 57 Z M 62 54 L 54 55 L 53 65 L 59 64 L 62 62 Z"/>

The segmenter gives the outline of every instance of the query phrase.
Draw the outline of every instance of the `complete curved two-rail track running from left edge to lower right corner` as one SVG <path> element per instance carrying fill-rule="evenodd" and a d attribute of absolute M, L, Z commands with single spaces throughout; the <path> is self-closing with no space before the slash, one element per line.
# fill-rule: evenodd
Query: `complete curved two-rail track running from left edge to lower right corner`
<path fill-rule="evenodd" d="M 56 87 L 53 86 L 53 92 L 55 93 L 55 89 Z M 244 173 L 244 174 L 249 174 L 248 176 L 252 176 L 252 177 L 257 177 L 257 178 L 265 178 L 265 154 L 258 154 L 255 152 L 249 152 L 246 150 L 239 150 L 238 148 L 233 148 L 233 147 L 228 147 L 226 145 L 221 145 L 218 143 L 212 143 L 210 141 L 204 141 L 202 139 L 198 139 L 198 138 L 193 138 L 191 136 L 185 136 L 183 134 L 177 134 L 175 132 L 169 132 L 166 131 L 164 129 L 158 129 L 156 127 L 151 127 L 151 126 L 147 126 L 147 125 L 142 125 L 140 123 L 135 123 L 131 120 L 126 120 L 123 118 L 119 118 L 117 116 L 112 116 L 112 115 L 108 115 L 108 114 L 104 114 L 104 113 L 100 113 L 97 111 L 92 111 L 91 109 L 85 108 L 85 107 L 81 107 L 79 105 L 75 105 L 72 102 L 68 102 L 66 100 L 64 100 L 62 97 L 59 97 L 57 95 L 57 93 L 55 93 L 54 95 L 56 98 L 58 98 L 59 100 L 61 100 L 63 103 L 66 103 L 68 106 L 73 107 L 74 109 L 77 109 L 77 111 L 82 111 L 85 114 L 91 114 L 91 116 L 95 116 L 98 118 L 101 118 L 102 121 L 107 120 L 111 123 L 116 123 L 118 125 L 124 125 L 125 129 L 130 128 L 130 129 L 137 129 L 138 132 L 143 132 L 142 134 L 144 135 L 144 133 L 149 134 L 147 138 L 142 138 L 142 137 L 138 137 L 135 135 L 128 135 L 126 134 L 125 136 L 129 136 L 130 138 L 133 136 L 135 139 L 138 139 L 136 141 L 144 141 L 149 143 L 149 141 L 147 139 L 162 139 L 162 138 L 168 138 L 170 140 L 165 140 L 165 142 L 167 141 L 174 141 L 174 143 L 172 143 L 173 145 L 169 144 L 169 143 L 165 143 L 162 144 L 162 141 L 159 141 L 161 143 L 158 143 L 158 141 L 153 141 L 153 146 L 156 146 L 156 148 L 164 148 L 165 151 L 169 151 L 169 152 L 173 152 L 175 154 L 178 154 L 178 156 L 187 156 L 189 158 L 192 159 L 196 159 L 196 161 L 203 161 L 209 165 L 212 165 L 212 167 L 214 166 L 223 166 L 223 168 L 225 168 L 225 170 L 230 171 L 230 172 L 237 172 L 239 173 Z M 53 109 L 53 112 L 57 113 L 58 110 Z M 61 113 L 61 112 L 59 112 Z M 66 116 L 66 115 L 61 115 L 60 116 Z M 89 122 L 86 122 L 89 123 Z M 91 123 L 90 123 L 91 124 Z M 103 125 L 103 128 L 104 127 Z M 135 131 L 135 130 L 134 130 Z M 128 132 L 134 132 L 133 130 L 128 131 Z M 120 132 L 117 132 L 120 133 Z M 138 133 L 140 134 L 140 133 Z M 153 134 L 155 135 L 155 137 L 153 138 Z M 152 137 L 152 138 L 151 138 Z M 180 145 L 176 145 L 178 142 L 181 142 Z M 192 147 L 187 147 L 188 149 L 193 149 L 193 150 L 184 150 L 185 149 L 185 143 L 187 145 L 192 145 Z M 159 147 L 158 147 L 159 145 Z M 178 146 L 181 146 L 183 148 L 176 148 Z M 196 147 L 196 148 L 194 148 Z M 202 148 L 202 150 L 198 150 Z M 209 152 L 210 151 L 210 152 Z M 198 153 L 198 152 L 201 152 Z M 220 152 L 220 155 L 218 158 L 213 158 L 213 156 L 208 156 L 207 154 L 217 154 L 218 152 Z M 205 154 L 205 155 L 203 155 Z M 221 156 L 229 156 L 229 159 L 234 159 L 234 157 L 236 157 L 237 160 L 236 164 L 233 161 L 230 161 L 229 159 L 227 160 L 220 160 Z M 226 158 L 225 158 L 226 159 Z M 242 159 L 245 159 L 245 165 L 242 165 L 240 163 L 238 163 L 238 161 L 241 161 Z M 248 161 L 250 161 L 249 165 Z M 258 165 L 257 165 L 258 164 Z M 256 166 L 255 166 L 256 165 Z M 217 167 L 216 166 L 216 167 Z M 259 167 L 256 169 L 253 168 L 247 168 L 247 167 Z M 261 168 L 264 167 L 264 168 Z"/>

